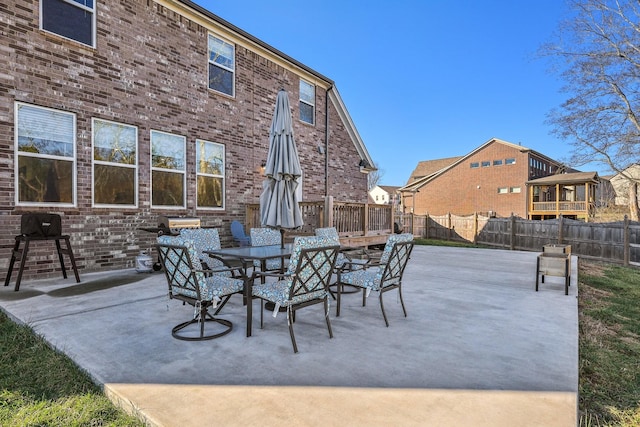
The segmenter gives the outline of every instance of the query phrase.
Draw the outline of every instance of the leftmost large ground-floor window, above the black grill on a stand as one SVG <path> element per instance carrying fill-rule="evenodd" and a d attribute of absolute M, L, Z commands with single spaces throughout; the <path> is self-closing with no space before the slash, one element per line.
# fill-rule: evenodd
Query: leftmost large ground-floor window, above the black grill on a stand
<path fill-rule="evenodd" d="M 75 206 L 76 115 L 15 103 L 15 202 Z"/>

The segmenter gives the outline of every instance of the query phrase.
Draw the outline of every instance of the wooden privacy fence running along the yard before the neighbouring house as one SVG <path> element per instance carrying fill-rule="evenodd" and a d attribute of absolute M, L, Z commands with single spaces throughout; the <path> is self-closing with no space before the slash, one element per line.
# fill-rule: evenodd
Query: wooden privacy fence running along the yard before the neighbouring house
<path fill-rule="evenodd" d="M 417 237 L 469 241 L 511 250 L 541 251 L 544 245 L 571 245 L 585 258 L 640 266 L 640 223 L 593 223 L 559 219 L 491 218 L 478 214 L 412 215 L 396 217 Z"/>

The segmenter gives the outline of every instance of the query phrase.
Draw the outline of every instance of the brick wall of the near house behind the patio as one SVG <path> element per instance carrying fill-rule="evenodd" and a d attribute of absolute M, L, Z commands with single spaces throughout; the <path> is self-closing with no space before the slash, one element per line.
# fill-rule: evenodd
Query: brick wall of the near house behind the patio
<path fill-rule="evenodd" d="M 215 11 L 213 11 L 215 12 Z M 304 169 L 303 199 L 325 195 L 324 155 L 327 94 L 316 86 L 316 124 L 298 119 L 299 80 L 291 69 L 236 45 L 236 95 L 207 88 L 208 30 L 185 16 L 148 1 L 98 2 L 97 46 L 91 49 L 39 29 L 39 2 L 0 4 L 0 268 L 6 271 L 26 211 L 56 212 L 82 271 L 133 267 L 135 255 L 152 247 L 155 236 L 139 230 L 155 226 L 158 215 L 200 217 L 219 227 L 230 244 L 229 224 L 244 220 L 245 205 L 258 203 L 268 131 L 278 89 L 285 88 L 293 108 L 294 132 Z M 15 206 L 14 101 L 56 108 L 77 118 L 77 207 Z M 329 195 L 336 200 L 366 201 L 366 176 L 333 106 L 329 105 Z M 139 208 L 91 206 L 91 118 L 138 127 Z M 187 138 L 187 208 L 151 209 L 149 132 Z M 226 206 L 221 211 L 195 207 L 196 138 L 226 147 Z M 36 245 L 29 253 L 25 278 L 59 275 L 53 246 Z M 4 276 L 3 276 L 4 277 Z M 15 273 L 14 273 L 15 277 Z"/>

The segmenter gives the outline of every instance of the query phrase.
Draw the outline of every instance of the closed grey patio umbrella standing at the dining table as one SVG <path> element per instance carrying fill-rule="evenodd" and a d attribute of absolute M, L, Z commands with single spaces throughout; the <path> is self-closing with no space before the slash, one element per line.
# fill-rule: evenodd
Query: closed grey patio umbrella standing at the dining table
<path fill-rule="evenodd" d="M 285 230 L 302 227 L 302 212 L 296 195 L 302 175 L 293 125 L 289 96 L 280 89 L 269 130 L 269 151 L 265 164 L 267 179 L 260 195 L 260 221 L 264 227 L 277 228 L 284 247 Z"/>

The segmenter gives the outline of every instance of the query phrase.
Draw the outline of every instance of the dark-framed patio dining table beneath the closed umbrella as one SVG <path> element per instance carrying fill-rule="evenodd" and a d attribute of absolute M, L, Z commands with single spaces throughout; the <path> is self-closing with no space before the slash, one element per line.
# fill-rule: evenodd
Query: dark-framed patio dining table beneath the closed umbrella
<path fill-rule="evenodd" d="M 269 259 L 280 258 L 284 266 L 284 260 L 291 257 L 293 249 L 292 243 L 268 246 L 243 246 L 239 248 L 222 248 L 216 250 L 204 251 L 207 254 L 216 255 L 223 258 L 237 259 L 242 263 L 242 274 L 244 275 L 244 297 L 247 305 L 247 336 L 251 336 L 251 323 L 253 318 L 251 304 L 251 288 L 252 278 L 248 273 L 249 267 L 253 266 L 253 261 L 260 261 L 261 268 L 264 269 L 265 263 Z"/>

